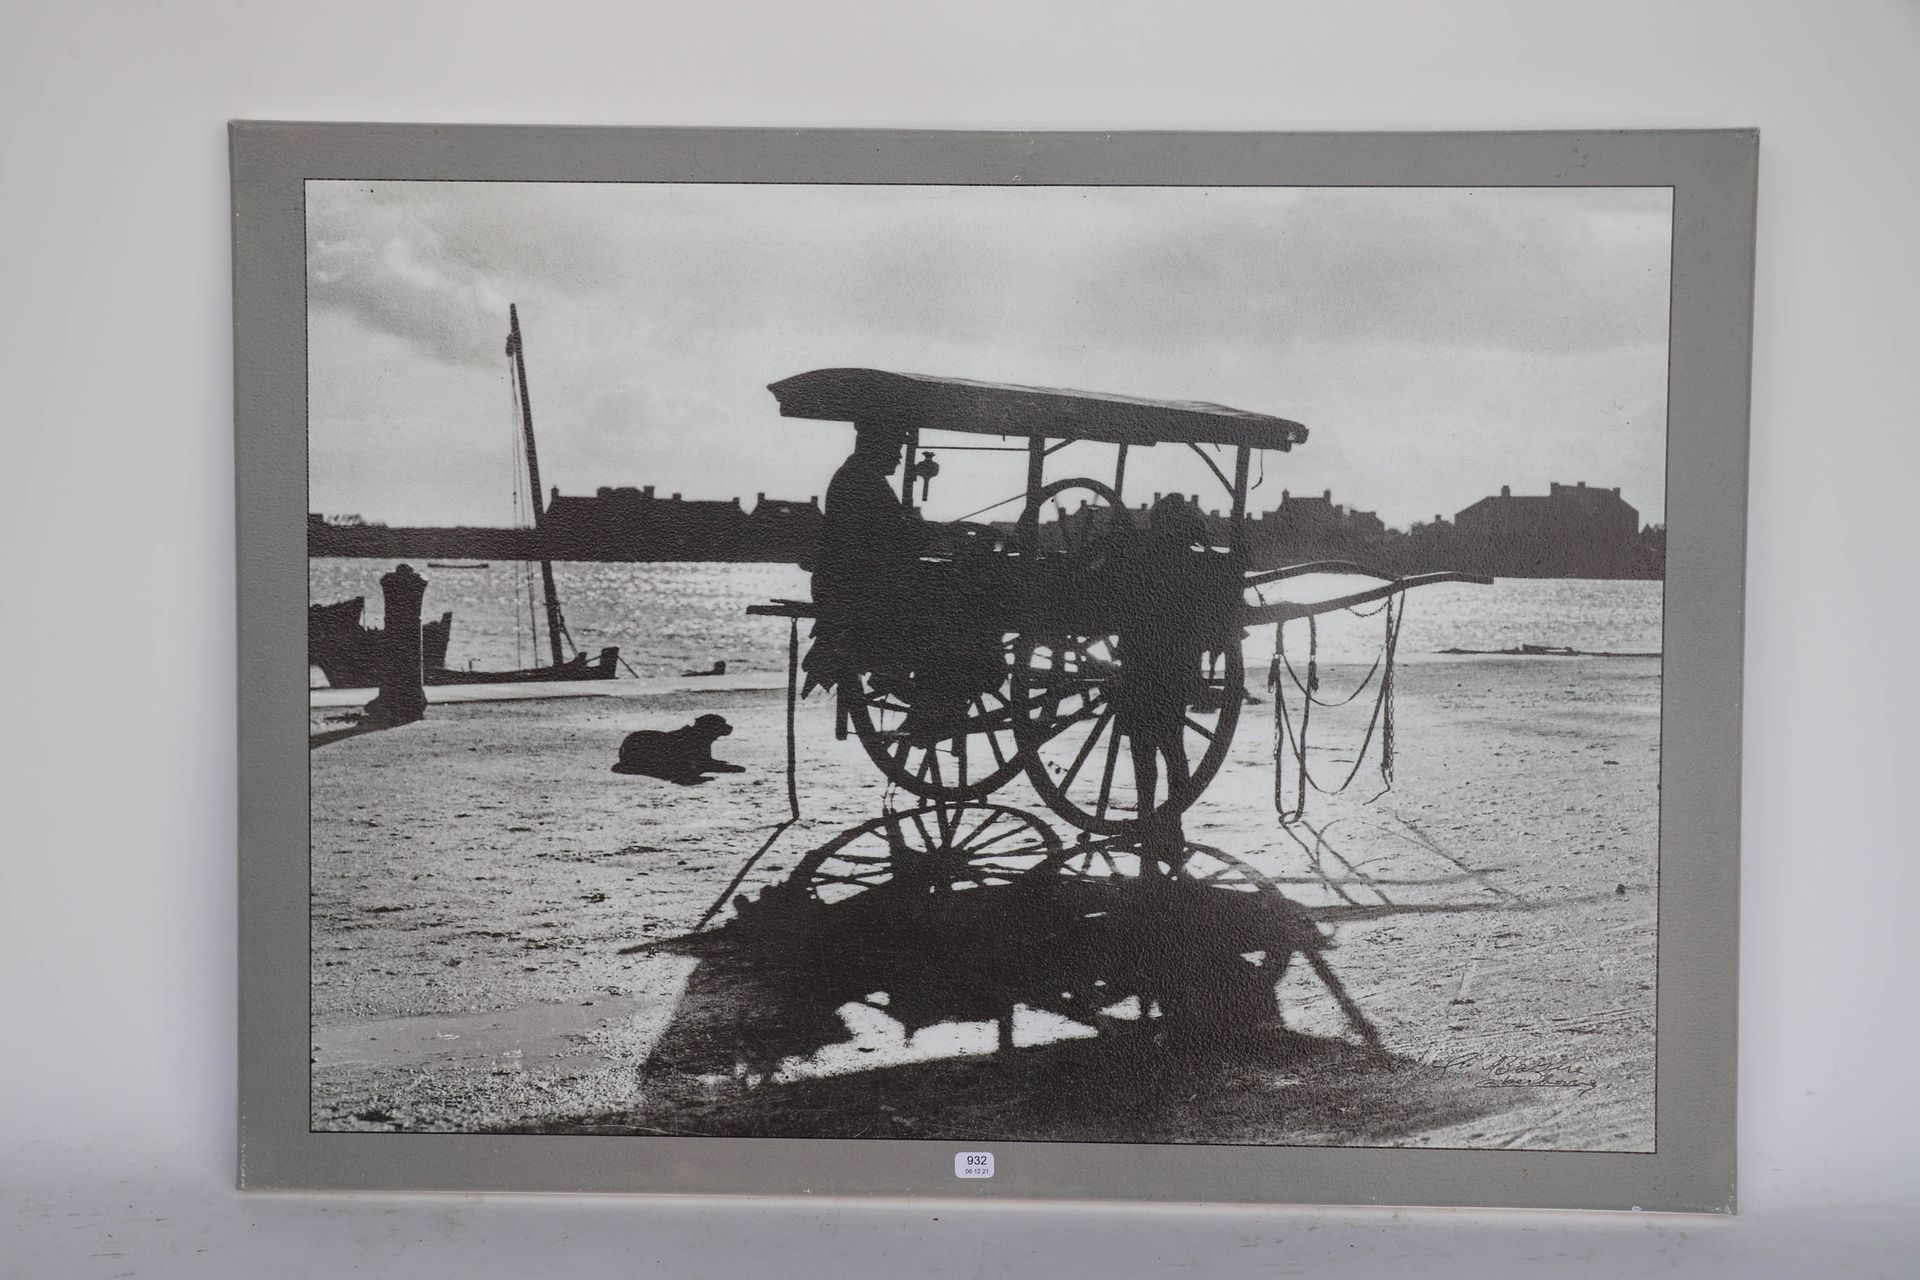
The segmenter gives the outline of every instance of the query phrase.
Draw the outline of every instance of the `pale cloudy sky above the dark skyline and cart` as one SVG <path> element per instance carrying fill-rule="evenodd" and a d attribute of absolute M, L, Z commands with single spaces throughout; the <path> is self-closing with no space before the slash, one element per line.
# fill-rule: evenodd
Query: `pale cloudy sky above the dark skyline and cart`
<path fill-rule="evenodd" d="M 824 493 L 851 428 L 766 384 L 862 365 L 1306 422 L 1260 509 L 1331 487 L 1405 526 L 1586 480 L 1659 522 L 1668 238 L 1665 188 L 309 182 L 309 507 L 511 524 L 515 301 L 563 493 Z M 947 455 L 931 514 L 1021 476 Z M 1208 486 L 1129 461 L 1133 501 Z"/>

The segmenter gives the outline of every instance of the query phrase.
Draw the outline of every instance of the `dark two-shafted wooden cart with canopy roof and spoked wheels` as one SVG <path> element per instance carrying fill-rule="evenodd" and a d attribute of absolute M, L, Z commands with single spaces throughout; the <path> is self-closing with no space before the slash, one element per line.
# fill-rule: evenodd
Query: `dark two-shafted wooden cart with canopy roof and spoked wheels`
<path fill-rule="evenodd" d="M 1434 581 L 1486 581 L 1344 562 L 1252 568 L 1254 453 L 1286 453 L 1308 438 L 1286 418 L 872 368 L 820 368 L 770 390 L 785 416 L 891 432 L 910 462 L 906 510 L 935 470 L 912 462 L 927 434 L 995 436 L 1025 451 L 1010 530 L 929 524 L 912 564 L 876 570 L 891 581 L 831 597 L 851 603 L 828 604 L 816 576 L 816 603 L 749 608 L 795 626 L 816 620 L 808 691 L 833 689 L 841 737 L 851 731 L 895 785 L 935 804 L 983 800 L 1023 773 L 1083 833 L 1177 842 L 1179 816 L 1225 762 L 1248 697 L 1246 628 Z M 1079 441 L 1112 445 L 1110 480 L 1046 478 L 1048 459 Z M 1229 495 L 1225 520 L 1177 495 L 1152 510 L 1125 505 L 1129 451 L 1152 445 L 1206 462 Z M 1231 451 L 1231 478 L 1217 449 Z M 1379 581 L 1317 603 L 1258 599 L 1260 587 L 1306 574 Z"/>

